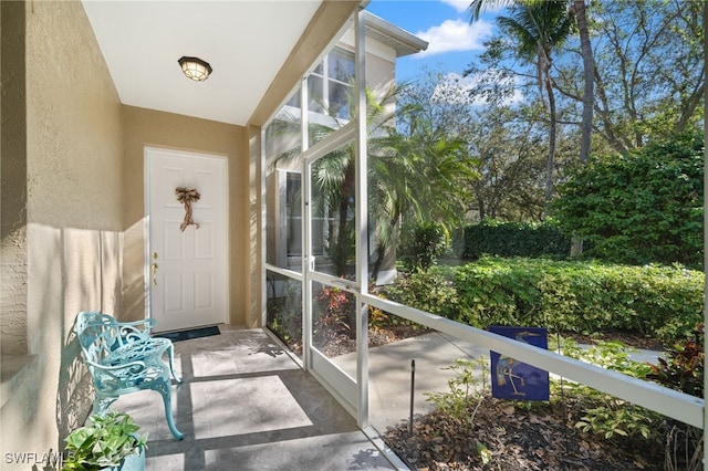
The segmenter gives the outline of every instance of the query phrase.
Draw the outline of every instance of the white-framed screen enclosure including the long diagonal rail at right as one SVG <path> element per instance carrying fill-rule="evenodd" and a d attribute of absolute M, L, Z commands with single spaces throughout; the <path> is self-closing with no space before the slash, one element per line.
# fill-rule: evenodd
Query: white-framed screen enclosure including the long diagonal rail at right
<path fill-rule="evenodd" d="M 368 402 L 369 307 L 415 322 L 450 338 L 469 342 L 479 348 L 513 358 L 523 358 L 529 365 L 690 426 L 704 428 L 705 398 L 696 398 L 654 383 L 608 371 L 553 352 L 393 303 L 369 293 L 368 266 L 371 253 L 375 251 L 375 247 L 369 247 L 374 244 L 369 244 L 373 240 L 367 223 L 369 208 L 364 203 L 368 201 L 367 126 L 364 106 L 366 87 L 364 21 L 361 12 L 352 19 L 355 31 L 353 48 L 355 114 L 352 115 L 354 119 L 324 136 L 313 134 L 310 121 L 312 113 L 309 113 L 308 106 L 316 101 L 309 95 L 309 92 L 314 90 L 312 82 L 309 77 L 304 77 L 301 88 L 296 92 L 301 104 L 300 115 L 291 122 L 299 126 L 298 135 L 289 134 L 285 138 L 281 134 L 279 139 L 284 147 L 281 147 L 278 153 L 271 153 L 273 147 L 268 144 L 268 130 L 263 137 L 267 144 L 263 156 L 262 195 L 264 195 L 263 220 L 267 221 L 264 245 L 268 248 L 263 264 L 266 281 L 263 324 L 270 327 L 278 324 L 277 326 L 287 332 L 295 344 L 301 345 L 299 355 L 303 367 L 312 371 L 337 397 L 363 429 L 373 421 L 373 418 L 369 418 Z M 324 56 L 321 60 L 324 60 Z M 313 64 L 311 71 L 319 66 L 320 62 Z M 283 116 L 281 114 L 280 117 L 273 117 L 271 126 L 274 126 L 274 123 Z M 317 138 L 321 140 L 316 140 Z M 283 144 L 283 140 L 287 143 Z M 317 193 L 319 187 L 314 181 L 322 166 L 329 160 L 342 159 L 342 155 L 347 153 L 353 153 L 351 158 L 355 164 L 353 206 L 347 206 L 354 210 L 347 214 L 331 213 L 323 210 L 325 207 L 320 205 L 323 196 Z M 279 158 L 285 154 L 289 156 L 287 159 Z M 298 221 L 300 221 L 299 227 Z M 333 251 L 331 241 L 342 232 L 342 223 L 354 224 L 354 239 L 350 241 L 350 245 L 343 247 L 355 252 L 355 262 L 346 265 L 345 271 L 335 271 L 332 259 L 336 253 Z M 277 243 L 278 239 L 281 240 L 280 243 Z M 292 242 L 295 240 L 300 241 L 298 249 L 291 251 L 283 249 L 283 247 L 292 248 Z M 279 250 L 280 253 L 277 253 Z M 355 332 L 356 365 L 350 369 L 337 365 L 326 353 L 327 338 L 322 332 L 324 324 L 322 321 L 325 315 L 322 312 L 322 300 L 333 292 L 337 293 L 339 303 L 346 305 L 350 311 L 346 320 L 330 321 L 348 322 L 348 326 Z M 708 464 L 704 465 L 708 470 Z"/>

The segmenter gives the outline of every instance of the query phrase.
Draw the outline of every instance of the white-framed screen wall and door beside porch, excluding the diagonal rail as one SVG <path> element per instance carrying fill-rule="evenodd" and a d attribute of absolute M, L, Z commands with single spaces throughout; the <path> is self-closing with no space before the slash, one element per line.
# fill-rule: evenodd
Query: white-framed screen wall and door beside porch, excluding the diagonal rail
<path fill-rule="evenodd" d="M 270 253 L 266 260 L 264 296 L 268 311 L 278 308 L 281 312 L 278 318 L 289 320 L 285 329 L 301 333 L 302 362 L 305 368 L 330 388 L 357 418 L 360 426 L 366 427 L 367 412 L 363 405 L 367 404 L 367 310 L 361 295 L 366 290 L 366 283 L 362 283 L 362 280 L 368 279 L 368 231 L 365 223 L 366 206 L 360 203 L 367 200 L 366 185 L 361 185 L 366 181 L 366 159 L 363 157 L 366 155 L 363 13 L 353 18 L 342 34 L 352 28 L 353 51 L 329 51 L 285 106 L 288 109 L 293 109 L 292 104 L 299 106 L 294 109 L 300 116 L 291 119 L 291 115 L 281 111 L 281 115 L 275 117 L 281 119 L 283 128 L 298 122 L 300 125 L 294 126 L 294 133 L 281 132 L 274 136 L 280 144 L 275 148 L 285 147 L 284 154 L 288 157 L 281 157 L 284 161 L 279 161 L 277 156 L 266 157 L 266 220 L 269 221 L 269 229 L 274 229 L 273 226 L 278 226 L 278 229 L 274 233 L 268 233 L 270 242 L 267 247 Z M 351 88 L 354 93 L 342 90 L 344 84 L 348 88 L 348 83 L 353 83 Z M 347 98 L 350 94 L 351 98 Z M 360 106 L 360 103 L 364 105 Z M 317 135 L 311 135 L 311 128 L 315 125 L 327 126 L 331 132 L 319 140 Z M 269 136 L 263 140 L 267 149 L 273 148 L 268 145 Z M 352 187 L 354 192 L 350 196 L 351 201 L 347 201 L 348 205 L 341 214 L 332 213 L 326 205 L 330 196 L 323 192 L 321 185 L 313 182 L 320 172 L 333 171 L 335 168 L 350 174 L 336 176 L 335 179 L 348 178 L 352 182 L 356 181 Z M 345 237 L 351 224 L 355 227 L 353 239 Z M 279 240 L 275 241 L 275 238 Z M 324 247 L 323 240 L 334 238 L 340 240 L 339 249 Z M 300 247 L 293 241 L 300 241 Z M 331 257 L 335 250 L 353 253 L 356 262 L 345 264 L 343 271 L 337 270 L 332 264 Z M 347 260 L 343 254 L 342 257 Z M 279 263 L 273 263 L 274 261 Z M 348 311 L 347 323 L 357 326 L 355 342 L 360 355 L 354 368 L 340 368 L 331 362 L 327 343 L 332 338 L 326 332 L 315 327 L 325 323 L 324 317 L 327 316 L 326 312 L 320 310 L 316 300 L 333 292 L 341 293 Z M 275 304 L 279 304 L 278 307 Z M 263 323 L 272 324 L 272 312 L 267 313 Z"/>

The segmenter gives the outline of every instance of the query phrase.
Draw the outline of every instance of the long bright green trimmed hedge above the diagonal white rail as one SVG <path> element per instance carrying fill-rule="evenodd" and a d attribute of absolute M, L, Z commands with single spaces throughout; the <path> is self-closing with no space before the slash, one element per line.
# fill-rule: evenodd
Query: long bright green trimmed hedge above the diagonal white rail
<path fill-rule="evenodd" d="M 702 322 L 704 273 L 679 266 L 482 258 L 402 278 L 387 297 L 480 328 L 625 331 L 671 343 Z"/>

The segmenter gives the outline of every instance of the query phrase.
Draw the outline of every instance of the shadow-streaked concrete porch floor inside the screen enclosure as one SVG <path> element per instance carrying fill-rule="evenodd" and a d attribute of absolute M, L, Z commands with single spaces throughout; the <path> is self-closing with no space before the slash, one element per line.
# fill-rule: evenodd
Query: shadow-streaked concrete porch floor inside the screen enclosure
<path fill-rule="evenodd" d="M 113 408 L 149 433 L 148 470 L 394 469 L 356 421 L 262 329 L 175 343 L 184 383 L 173 386 L 175 441 L 160 396 L 127 395 Z"/>

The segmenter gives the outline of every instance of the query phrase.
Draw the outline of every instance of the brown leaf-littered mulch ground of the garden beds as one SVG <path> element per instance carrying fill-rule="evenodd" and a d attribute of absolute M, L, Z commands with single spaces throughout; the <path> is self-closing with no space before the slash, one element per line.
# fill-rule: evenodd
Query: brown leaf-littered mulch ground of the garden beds
<path fill-rule="evenodd" d="M 425 328 L 408 325 L 386 326 L 369 331 L 369 347 L 385 345 L 414 335 Z M 628 347 L 664 349 L 660 343 L 636 334 L 608 332 L 584 336 L 561 334 L 576 343 L 620 341 Z M 316 341 L 315 341 L 316 342 Z M 330 337 L 321 344 L 327 356 L 337 356 L 355 349 L 355 341 L 346 334 Z M 389 428 L 383 439 L 413 470 L 471 471 L 471 470 L 643 470 L 665 468 L 665 436 L 647 440 L 642 437 L 614 436 L 604 439 L 575 428 L 582 408 L 573 400 L 511 402 L 487 396 L 479 407 L 469 405 L 461 422 L 460 416 L 436 410 L 409 425 Z M 669 425 L 660 425 L 669 428 Z M 686 468 L 677 468 L 686 469 Z"/>

